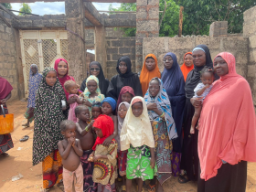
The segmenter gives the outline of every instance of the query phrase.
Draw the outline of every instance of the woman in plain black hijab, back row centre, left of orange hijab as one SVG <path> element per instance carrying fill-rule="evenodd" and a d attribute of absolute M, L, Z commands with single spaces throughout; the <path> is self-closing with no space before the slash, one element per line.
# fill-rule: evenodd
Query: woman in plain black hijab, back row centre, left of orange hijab
<path fill-rule="evenodd" d="M 136 96 L 143 96 L 140 79 L 136 73 L 132 72 L 132 63 L 128 56 L 118 59 L 116 71 L 119 74 L 112 77 L 107 91 L 107 97 L 112 97 L 117 101 L 119 93 L 124 86 L 133 88 Z"/>

